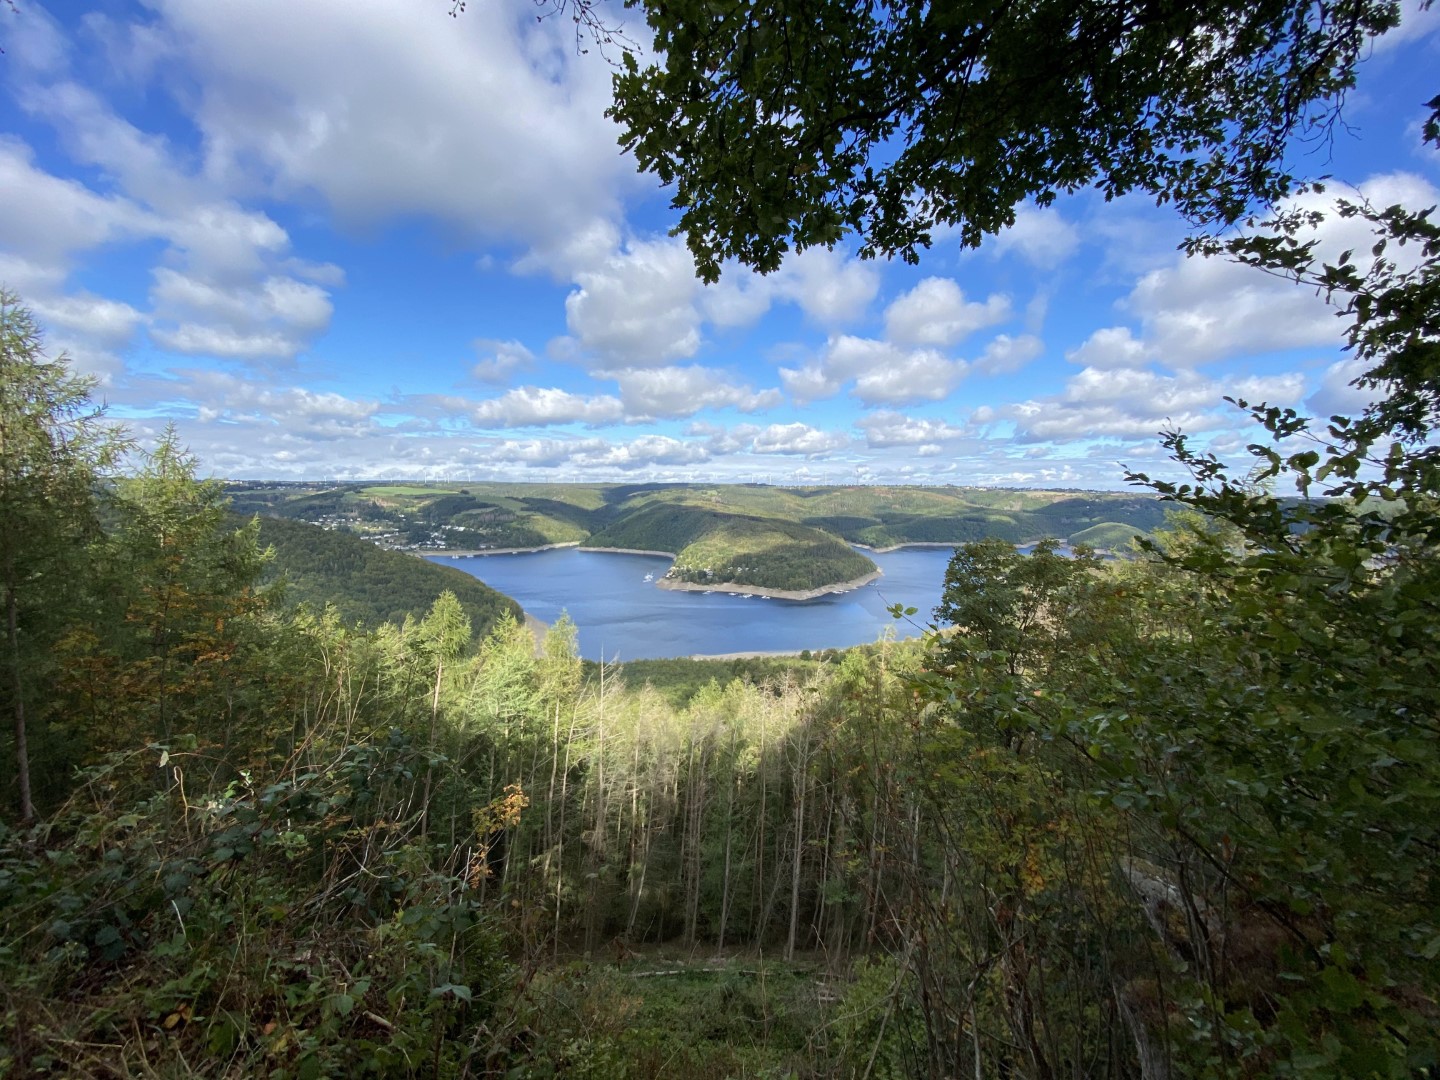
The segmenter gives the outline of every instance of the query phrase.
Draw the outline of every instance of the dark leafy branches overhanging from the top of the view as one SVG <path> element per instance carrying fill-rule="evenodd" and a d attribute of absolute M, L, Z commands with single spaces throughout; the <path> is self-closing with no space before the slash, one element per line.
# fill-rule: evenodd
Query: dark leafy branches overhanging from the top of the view
<path fill-rule="evenodd" d="M 649 0 L 612 115 L 675 184 L 700 275 L 857 232 L 914 262 L 978 245 L 1024 200 L 1146 192 L 1233 223 L 1290 193 L 1392 0 Z M 579 4 L 579 17 L 590 14 Z"/>

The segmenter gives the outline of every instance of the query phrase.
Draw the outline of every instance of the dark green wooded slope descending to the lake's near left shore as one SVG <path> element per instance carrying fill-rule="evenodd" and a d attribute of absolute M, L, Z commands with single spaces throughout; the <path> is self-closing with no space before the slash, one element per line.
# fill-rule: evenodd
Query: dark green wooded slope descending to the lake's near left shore
<path fill-rule="evenodd" d="M 472 575 L 376 547 L 347 531 L 262 517 L 259 543 L 272 552 L 266 579 L 284 582 L 287 603 L 317 612 L 328 605 L 347 625 L 373 629 L 422 618 L 442 592 L 455 595 L 478 635 L 507 612 L 523 618 L 518 603 Z"/>

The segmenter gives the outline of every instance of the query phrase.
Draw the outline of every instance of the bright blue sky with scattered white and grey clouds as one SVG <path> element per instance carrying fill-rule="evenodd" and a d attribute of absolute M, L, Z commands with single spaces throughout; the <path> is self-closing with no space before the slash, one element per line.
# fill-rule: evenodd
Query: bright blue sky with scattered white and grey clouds
<path fill-rule="evenodd" d="M 1296 148 L 1316 206 L 1440 202 L 1440 10 L 1413 7 Z M 232 478 L 1117 488 L 1171 472 L 1162 428 L 1238 456 L 1225 395 L 1364 405 L 1322 300 L 1187 261 L 1145 199 L 701 287 L 605 58 L 534 10 L 0 4 L 0 282 L 112 416 Z"/>

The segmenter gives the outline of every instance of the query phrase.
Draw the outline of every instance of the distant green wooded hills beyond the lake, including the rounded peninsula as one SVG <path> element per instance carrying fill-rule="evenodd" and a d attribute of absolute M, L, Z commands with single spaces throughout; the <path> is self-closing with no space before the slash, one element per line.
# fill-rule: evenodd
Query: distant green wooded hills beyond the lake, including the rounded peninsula
<path fill-rule="evenodd" d="M 410 552 L 582 544 L 674 556 L 661 588 L 806 599 L 878 573 L 852 544 L 1060 537 L 1123 547 L 1161 524 L 1138 494 L 763 484 L 232 484 L 239 511 L 310 521 Z"/>

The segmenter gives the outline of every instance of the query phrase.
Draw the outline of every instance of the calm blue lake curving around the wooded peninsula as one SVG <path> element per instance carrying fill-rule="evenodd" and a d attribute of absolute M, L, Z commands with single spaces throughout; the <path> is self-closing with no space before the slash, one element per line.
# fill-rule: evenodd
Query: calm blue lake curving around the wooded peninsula
<path fill-rule="evenodd" d="M 949 547 L 865 552 L 884 576 L 854 592 L 814 600 L 766 600 L 723 592 L 655 588 L 671 559 L 613 552 L 550 552 L 487 556 L 426 556 L 455 566 L 514 596 L 543 622 L 567 611 L 580 629 L 586 660 L 654 660 L 723 652 L 798 652 L 848 648 L 876 641 L 886 628 L 920 634 L 940 602 Z M 647 575 L 651 580 L 647 580 Z M 897 622 L 891 603 L 917 608 L 914 624 Z"/>

